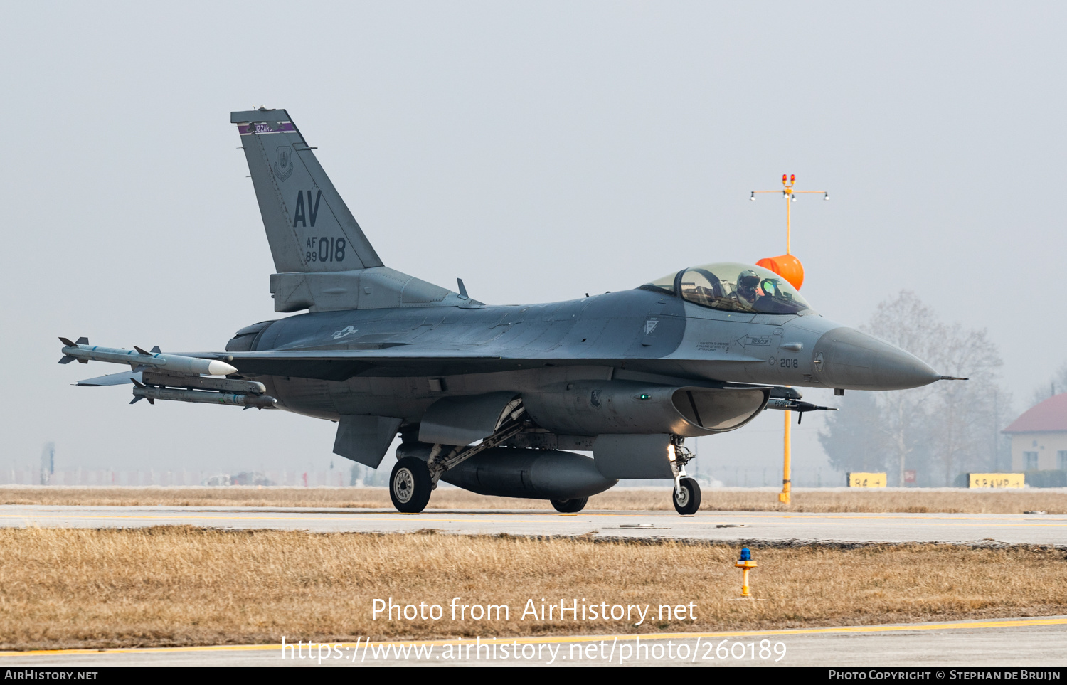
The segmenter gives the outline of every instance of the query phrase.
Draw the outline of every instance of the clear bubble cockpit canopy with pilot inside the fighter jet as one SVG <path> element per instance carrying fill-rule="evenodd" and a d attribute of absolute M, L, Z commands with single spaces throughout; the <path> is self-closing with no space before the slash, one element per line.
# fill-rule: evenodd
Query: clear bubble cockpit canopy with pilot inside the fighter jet
<path fill-rule="evenodd" d="M 690 267 L 641 287 L 727 312 L 798 314 L 811 309 L 797 289 L 774 271 L 733 261 Z"/>

